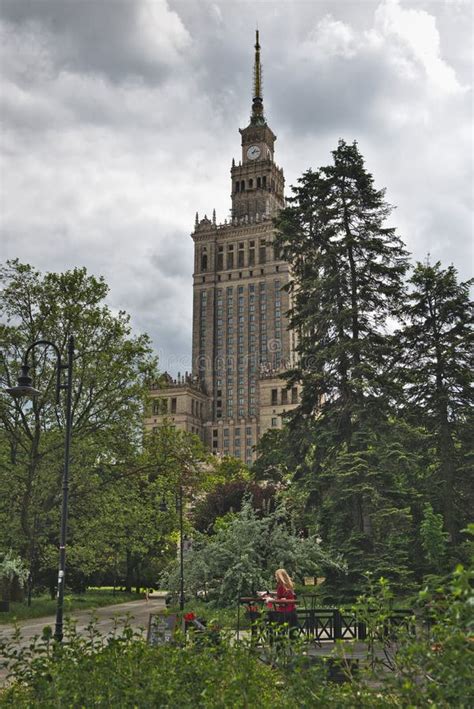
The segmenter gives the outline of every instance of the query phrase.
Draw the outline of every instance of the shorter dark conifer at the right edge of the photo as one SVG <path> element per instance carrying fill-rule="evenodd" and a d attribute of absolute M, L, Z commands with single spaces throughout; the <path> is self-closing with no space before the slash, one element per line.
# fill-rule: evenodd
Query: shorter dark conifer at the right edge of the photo
<path fill-rule="evenodd" d="M 410 283 L 407 321 L 399 333 L 404 348 L 402 381 L 408 414 L 434 437 L 437 473 L 433 502 L 455 542 L 472 510 L 469 437 L 472 432 L 472 303 L 456 269 L 418 263 Z"/>

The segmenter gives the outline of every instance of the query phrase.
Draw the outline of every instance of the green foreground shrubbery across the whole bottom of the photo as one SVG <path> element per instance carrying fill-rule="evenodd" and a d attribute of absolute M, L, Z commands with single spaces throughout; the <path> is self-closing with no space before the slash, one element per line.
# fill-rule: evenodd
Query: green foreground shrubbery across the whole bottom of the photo
<path fill-rule="evenodd" d="M 298 644 L 267 652 L 224 636 L 217 646 L 151 647 L 127 622 L 117 622 L 108 637 L 91 622 L 82 637 L 67 627 L 62 645 L 52 641 L 50 628 L 31 643 L 22 644 L 20 633 L 4 641 L 0 652 L 13 683 L 1 692 L 0 706 L 468 709 L 474 702 L 472 574 L 472 567 L 458 566 L 443 583 L 423 589 L 416 633 L 412 626 L 392 632 L 389 585 L 370 581 L 355 606 L 369 626 L 369 662 L 354 674 L 341 643 L 331 664 L 338 662 L 342 684 L 330 681 L 331 664 L 300 654 Z"/>

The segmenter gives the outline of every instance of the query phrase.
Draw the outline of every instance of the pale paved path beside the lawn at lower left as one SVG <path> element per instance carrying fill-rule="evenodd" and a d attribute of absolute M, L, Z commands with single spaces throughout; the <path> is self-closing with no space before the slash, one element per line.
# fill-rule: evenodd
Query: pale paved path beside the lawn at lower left
<path fill-rule="evenodd" d="M 90 623 L 91 613 L 97 617 L 97 630 L 101 635 L 109 635 L 114 629 L 114 618 L 117 616 L 123 617 L 130 615 L 130 625 L 135 630 L 146 633 L 148 627 L 148 617 L 150 613 L 164 610 L 165 598 L 150 598 L 149 601 L 130 601 L 129 603 L 117 603 L 113 606 L 103 606 L 95 610 L 71 611 L 67 613 L 67 617 L 74 619 L 76 622 L 77 632 L 85 633 L 86 627 Z M 19 622 L 21 628 L 22 640 L 21 644 L 27 644 L 35 635 L 41 635 L 45 625 L 50 625 L 54 630 L 56 618 L 55 616 L 47 616 L 45 618 L 34 618 L 31 620 L 23 620 Z M 0 638 L 11 638 L 14 633 L 12 625 L 0 625 Z M 1 659 L 1 658 L 0 658 Z M 0 669 L 0 685 L 4 682 L 6 671 Z"/>

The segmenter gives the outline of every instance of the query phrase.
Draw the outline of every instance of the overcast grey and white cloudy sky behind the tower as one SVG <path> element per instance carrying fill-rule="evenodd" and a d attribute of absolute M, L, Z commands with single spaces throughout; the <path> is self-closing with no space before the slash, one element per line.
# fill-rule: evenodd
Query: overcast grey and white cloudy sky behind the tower
<path fill-rule="evenodd" d="M 229 213 L 257 24 L 287 186 L 357 139 L 414 257 L 471 275 L 469 0 L 0 0 L 0 260 L 104 275 L 174 372 L 194 214 Z"/>

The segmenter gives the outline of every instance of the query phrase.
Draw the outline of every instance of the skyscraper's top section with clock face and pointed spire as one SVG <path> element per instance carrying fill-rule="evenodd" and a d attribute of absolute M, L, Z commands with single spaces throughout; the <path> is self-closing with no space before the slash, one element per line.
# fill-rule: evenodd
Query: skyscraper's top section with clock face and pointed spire
<path fill-rule="evenodd" d="M 273 216 L 284 206 L 283 170 L 273 161 L 276 135 L 263 113 L 262 66 L 258 30 L 255 42 L 255 65 L 250 124 L 240 129 L 242 158 L 232 161 L 232 216 L 253 221 Z"/>

